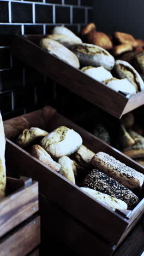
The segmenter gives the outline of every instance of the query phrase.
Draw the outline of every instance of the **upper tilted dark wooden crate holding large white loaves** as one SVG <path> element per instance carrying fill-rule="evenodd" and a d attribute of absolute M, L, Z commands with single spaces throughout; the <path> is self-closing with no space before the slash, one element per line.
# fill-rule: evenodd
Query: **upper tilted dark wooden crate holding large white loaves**
<path fill-rule="evenodd" d="M 27 65 L 46 74 L 58 84 L 92 102 L 99 108 L 121 118 L 123 114 L 144 104 L 144 92 L 125 95 L 116 92 L 97 80 L 89 77 L 80 69 L 49 54 L 40 48 L 39 42 L 44 35 L 15 35 L 11 43 L 11 52 Z"/>

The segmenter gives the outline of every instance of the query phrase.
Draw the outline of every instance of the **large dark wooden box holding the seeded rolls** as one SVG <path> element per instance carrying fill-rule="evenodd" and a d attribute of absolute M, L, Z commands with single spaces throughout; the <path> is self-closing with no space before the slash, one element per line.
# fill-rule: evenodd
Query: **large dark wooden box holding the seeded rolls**
<path fill-rule="evenodd" d="M 93 152 L 108 153 L 144 173 L 142 166 L 64 118 L 49 106 L 4 121 L 7 137 L 6 155 L 9 155 L 8 167 L 15 165 L 17 166 L 16 174 L 39 181 L 42 228 L 48 229 L 50 234 L 58 236 L 81 255 L 92 255 L 96 245 L 99 255 L 111 255 L 141 218 L 144 199 L 133 211 L 113 211 L 10 140 L 26 128 L 40 127 L 50 132 L 61 125 L 79 132 L 83 144 Z M 84 248 L 83 244 L 85 244 Z"/>

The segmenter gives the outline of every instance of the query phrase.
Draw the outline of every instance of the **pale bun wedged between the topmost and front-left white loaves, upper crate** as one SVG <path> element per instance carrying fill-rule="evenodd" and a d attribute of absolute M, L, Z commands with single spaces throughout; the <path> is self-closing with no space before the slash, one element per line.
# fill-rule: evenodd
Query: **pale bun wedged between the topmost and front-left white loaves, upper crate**
<path fill-rule="evenodd" d="M 65 34 L 48 34 L 46 38 L 55 40 L 67 48 L 71 48 L 71 46 L 74 46 L 80 43 L 79 40 L 77 40 L 77 38 L 69 37 L 69 36 L 66 36 Z"/>

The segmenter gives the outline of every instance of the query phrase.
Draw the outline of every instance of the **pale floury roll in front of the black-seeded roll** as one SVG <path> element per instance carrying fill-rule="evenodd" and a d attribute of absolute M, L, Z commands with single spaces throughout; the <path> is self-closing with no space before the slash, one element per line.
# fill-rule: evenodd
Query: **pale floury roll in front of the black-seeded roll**
<path fill-rule="evenodd" d="M 89 195 L 93 196 L 95 199 L 97 199 L 101 203 L 104 203 L 104 205 L 109 206 L 110 208 L 114 208 L 118 210 L 127 210 L 128 208 L 127 203 L 125 203 L 120 199 L 114 198 L 110 195 L 101 193 L 94 189 L 90 189 L 90 188 L 81 188 L 81 189 L 86 193 L 88 193 Z"/>

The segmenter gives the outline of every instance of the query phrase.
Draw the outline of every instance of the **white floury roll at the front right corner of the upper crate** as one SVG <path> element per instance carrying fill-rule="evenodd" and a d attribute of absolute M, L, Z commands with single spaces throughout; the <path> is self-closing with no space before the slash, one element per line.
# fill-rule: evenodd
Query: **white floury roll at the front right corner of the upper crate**
<path fill-rule="evenodd" d="M 135 94 L 136 93 L 136 89 L 135 89 L 134 85 L 131 84 L 126 78 L 117 79 L 117 78 L 113 77 L 113 78 L 103 81 L 103 83 L 107 87 L 109 87 L 115 91 L 122 91 L 122 92 L 126 92 L 127 94 Z"/>

